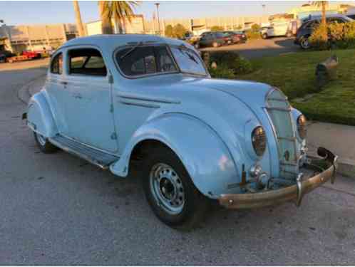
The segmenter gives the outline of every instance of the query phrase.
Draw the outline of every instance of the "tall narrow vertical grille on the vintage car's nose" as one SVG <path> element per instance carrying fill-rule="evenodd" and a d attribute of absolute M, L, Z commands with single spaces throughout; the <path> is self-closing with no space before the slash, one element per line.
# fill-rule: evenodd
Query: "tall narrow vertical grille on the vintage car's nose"
<path fill-rule="evenodd" d="M 297 137 L 292 123 L 291 106 L 287 97 L 277 89 L 272 89 L 267 94 L 266 106 L 277 139 L 280 177 L 295 179 L 299 172 L 299 164 Z"/>

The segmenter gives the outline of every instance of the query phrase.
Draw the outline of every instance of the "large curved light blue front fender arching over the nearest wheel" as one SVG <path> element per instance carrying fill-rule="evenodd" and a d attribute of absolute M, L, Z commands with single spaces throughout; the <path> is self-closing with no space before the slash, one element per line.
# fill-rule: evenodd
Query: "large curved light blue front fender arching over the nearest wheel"
<path fill-rule="evenodd" d="M 183 113 L 167 113 L 149 120 L 133 135 L 111 172 L 125 177 L 130 155 L 144 140 L 157 140 L 170 147 L 190 174 L 195 187 L 207 197 L 217 199 L 239 186 L 237 167 L 227 145 L 209 125 Z M 148 156 L 149 157 L 149 156 Z"/>

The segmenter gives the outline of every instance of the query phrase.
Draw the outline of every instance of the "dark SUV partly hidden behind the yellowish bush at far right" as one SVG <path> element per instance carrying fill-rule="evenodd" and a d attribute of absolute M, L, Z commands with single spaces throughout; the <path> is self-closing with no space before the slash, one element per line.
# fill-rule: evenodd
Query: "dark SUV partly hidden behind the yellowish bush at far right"
<path fill-rule="evenodd" d="M 337 22 L 337 23 L 346 23 L 354 21 L 353 19 L 349 18 L 348 16 L 342 15 L 333 15 L 326 18 L 327 23 Z M 317 16 L 313 19 L 309 19 L 305 21 L 301 27 L 299 27 L 296 38 L 294 39 L 294 43 L 301 46 L 303 49 L 308 49 L 311 47 L 309 43 L 309 37 L 312 35 L 314 28 L 317 28 L 321 23 L 321 16 Z"/>

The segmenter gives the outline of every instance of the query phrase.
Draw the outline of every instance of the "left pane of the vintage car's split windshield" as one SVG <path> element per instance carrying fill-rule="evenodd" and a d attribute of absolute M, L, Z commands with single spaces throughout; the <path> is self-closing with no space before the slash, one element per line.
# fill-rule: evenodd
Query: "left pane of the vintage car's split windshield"
<path fill-rule="evenodd" d="M 165 46 L 125 48 L 116 53 L 120 70 L 128 76 L 176 71 L 174 61 Z"/>

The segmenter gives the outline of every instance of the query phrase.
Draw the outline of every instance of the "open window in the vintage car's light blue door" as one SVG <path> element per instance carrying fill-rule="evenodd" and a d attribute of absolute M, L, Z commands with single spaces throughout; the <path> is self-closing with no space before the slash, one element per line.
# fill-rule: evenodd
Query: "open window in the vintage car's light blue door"
<path fill-rule="evenodd" d="M 80 48 L 69 51 L 69 74 L 106 76 L 107 69 L 100 51 Z"/>

